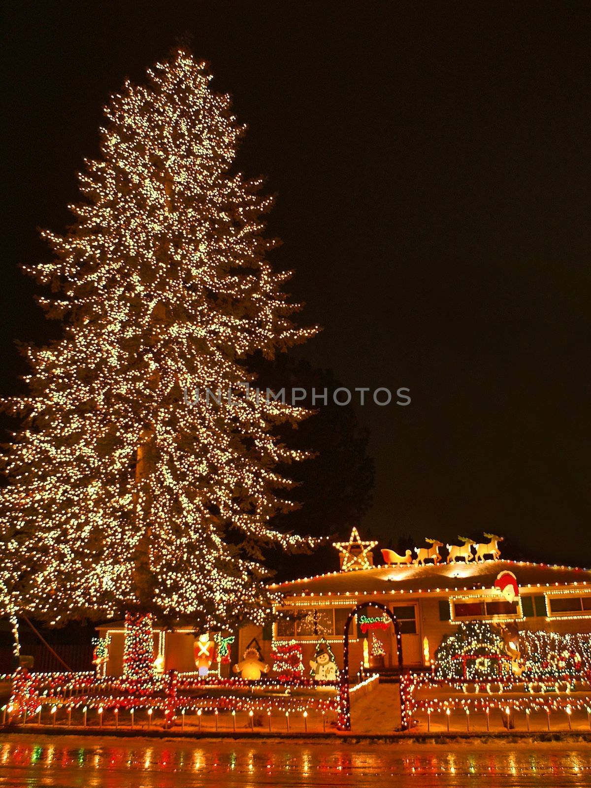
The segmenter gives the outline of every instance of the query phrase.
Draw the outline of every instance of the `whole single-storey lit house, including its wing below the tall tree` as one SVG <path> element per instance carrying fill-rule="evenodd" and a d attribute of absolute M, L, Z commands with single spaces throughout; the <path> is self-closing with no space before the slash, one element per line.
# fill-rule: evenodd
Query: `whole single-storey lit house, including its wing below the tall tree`
<path fill-rule="evenodd" d="M 443 563 L 440 556 L 437 563 L 427 563 L 436 559 L 426 553 L 437 552 L 437 545 L 441 546 L 433 543 L 434 548 L 416 551 L 420 564 L 417 559 L 410 563 L 409 554 L 397 556 L 402 562 L 398 565 L 374 566 L 376 543 L 362 542 L 354 530 L 351 540 L 335 545 L 340 551 L 340 571 L 271 585 L 281 595 L 272 622 L 265 627 L 247 625 L 234 633 L 231 660 L 228 657 L 223 665 L 214 662 L 212 670 L 229 675 L 229 662 L 240 660 L 253 639 L 270 664 L 277 646 L 299 645 L 307 675 L 316 645 L 324 638 L 336 663 L 342 665 L 344 625 L 360 604 L 368 607 L 359 611 L 350 628 L 351 673 L 361 664 L 400 667 L 394 629 L 381 608 L 372 608 L 374 603 L 396 616 L 404 667 L 429 665 L 444 636 L 453 633 L 460 622 L 512 623 L 519 630 L 591 634 L 591 571 L 506 559 L 477 561 L 474 555 L 466 562 L 464 547 L 452 563 Z M 514 598 L 496 587 L 497 578 L 506 573 L 515 578 Z M 121 675 L 124 627 L 102 626 L 100 635 L 110 641 L 103 671 Z M 163 670 L 195 671 L 197 635 L 190 627 L 174 631 L 154 627 L 154 660 L 160 658 Z"/>

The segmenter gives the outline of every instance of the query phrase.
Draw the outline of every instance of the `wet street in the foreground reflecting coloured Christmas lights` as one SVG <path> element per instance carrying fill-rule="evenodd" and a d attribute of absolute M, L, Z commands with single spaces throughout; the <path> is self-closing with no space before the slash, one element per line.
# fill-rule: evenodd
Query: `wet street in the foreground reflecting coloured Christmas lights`
<path fill-rule="evenodd" d="M 589 743 L 498 745 L 6 735 L 0 786 L 591 786 Z"/>

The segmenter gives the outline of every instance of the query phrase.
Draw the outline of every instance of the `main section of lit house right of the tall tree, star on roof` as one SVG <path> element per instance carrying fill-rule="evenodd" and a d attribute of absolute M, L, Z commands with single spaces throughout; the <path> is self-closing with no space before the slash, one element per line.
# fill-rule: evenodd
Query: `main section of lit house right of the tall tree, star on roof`
<path fill-rule="evenodd" d="M 343 544 L 346 548 L 348 543 Z M 589 570 L 504 559 L 477 562 L 474 555 L 467 563 L 439 560 L 418 565 L 408 563 L 408 556 L 395 566 L 374 566 L 373 559 L 366 560 L 366 556 L 355 560 L 360 555 L 359 544 L 375 543 L 360 543 L 354 531 L 349 543 L 354 548 L 354 560 L 347 563 L 341 557 L 341 571 L 272 586 L 283 600 L 275 610 L 269 653 L 273 644 L 296 641 L 307 665 L 319 637 L 324 637 L 337 663 L 342 664 L 344 623 L 352 609 L 367 604 L 369 607 L 359 611 L 350 631 L 349 665 L 350 671 L 356 672 L 361 663 L 367 665 L 370 651 L 362 637 L 359 616 L 375 621 L 384 615 L 381 609 L 371 608 L 374 602 L 385 605 L 399 622 L 404 667 L 429 665 L 444 636 L 453 633 L 459 622 L 512 623 L 519 630 L 591 633 Z M 341 550 L 343 545 L 336 546 Z M 420 559 L 420 551 L 416 552 Z M 497 578 L 507 572 L 515 575 L 517 586 L 511 600 L 495 587 Z M 249 633 L 251 637 L 253 634 Z M 399 667 L 393 627 L 385 621 L 385 627 L 372 630 L 371 637 L 378 641 L 375 651 L 383 652 L 385 667 Z M 371 661 L 371 653 L 369 656 Z"/>

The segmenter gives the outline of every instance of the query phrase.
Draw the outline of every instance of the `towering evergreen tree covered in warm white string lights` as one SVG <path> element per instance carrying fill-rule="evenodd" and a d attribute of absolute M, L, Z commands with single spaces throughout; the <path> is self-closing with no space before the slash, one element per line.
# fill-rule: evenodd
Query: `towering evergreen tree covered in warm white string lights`
<path fill-rule="evenodd" d="M 266 259 L 271 199 L 232 170 L 229 98 L 184 51 L 148 73 L 107 106 L 75 223 L 45 233 L 53 262 L 27 269 L 65 331 L 28 351 L 31 394 L 9 403 L 24 422 L 0 502 L 3 576 L 13 604 L 52 622 L 258 620 L 264 549 L 312 541 L 271 524 L 290 485 L 273 467 L 302 456 L 272 428 L 303 411 L 257 400 L 244 359 L 314 329 L 292 323 L 288 274 Z"/>

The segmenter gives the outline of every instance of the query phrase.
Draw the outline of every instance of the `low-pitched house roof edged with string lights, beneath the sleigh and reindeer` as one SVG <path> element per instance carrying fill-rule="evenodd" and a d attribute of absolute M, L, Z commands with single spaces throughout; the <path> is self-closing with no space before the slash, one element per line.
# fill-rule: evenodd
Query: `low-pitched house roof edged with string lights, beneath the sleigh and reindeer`
<path fill-rule="evenodd" d="M 466 591 L 490 589 L 497 575 L 504 570 L 515 574 L 521 588 L 552 585 L 582 585 L 591 589 L 591 571 L 576 567 L 557 567 L 526 561 L 484 561 L 480 563 L 440 563 L 418 567 L 371 567 L 348 572 L 331 572 L 314 578 L 274 583 L 271 589 L 286 597 L 310 594 L 388 594 Z"/>

